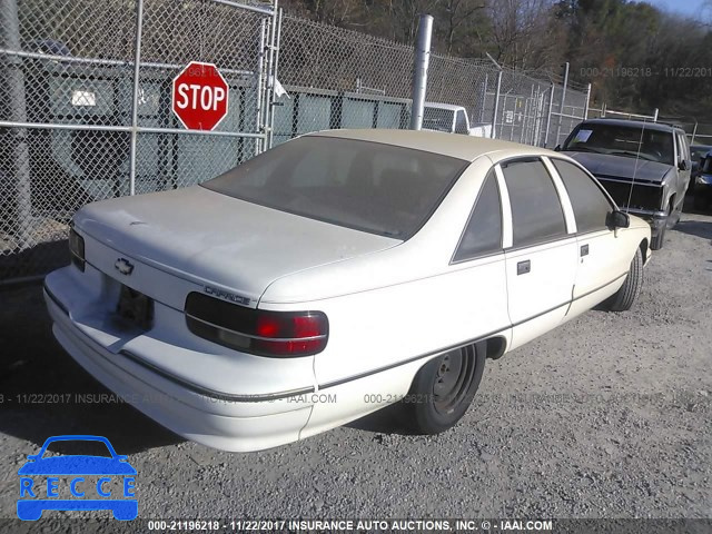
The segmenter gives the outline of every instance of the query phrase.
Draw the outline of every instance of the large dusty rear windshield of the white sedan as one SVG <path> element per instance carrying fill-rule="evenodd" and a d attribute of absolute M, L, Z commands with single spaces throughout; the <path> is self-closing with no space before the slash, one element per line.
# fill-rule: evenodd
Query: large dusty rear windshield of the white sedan
<path fill-rule="evenodd" d="M 421 150 L 309 136 L 279 145 L 202 186 L 303 217 L 407 239 L 467 165 Z"/>

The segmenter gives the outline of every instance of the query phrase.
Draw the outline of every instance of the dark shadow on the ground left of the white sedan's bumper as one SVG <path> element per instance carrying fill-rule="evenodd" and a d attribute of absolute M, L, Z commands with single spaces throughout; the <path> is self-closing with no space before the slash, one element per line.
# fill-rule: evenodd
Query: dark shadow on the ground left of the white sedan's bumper
<path fill-rule="evenodd" d="M 184 441 L 112 395 L 59 346 L 41 286 L 0 289 L 0 433 L 38 448 L 56 435 L 106 436 L 118 454 Z"/>

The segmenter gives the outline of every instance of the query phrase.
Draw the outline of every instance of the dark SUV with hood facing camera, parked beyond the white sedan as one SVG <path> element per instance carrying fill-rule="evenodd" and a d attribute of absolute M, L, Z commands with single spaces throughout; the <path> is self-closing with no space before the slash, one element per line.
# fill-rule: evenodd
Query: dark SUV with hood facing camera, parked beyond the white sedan
<path fill-rule="evenodd" d="M 665 230 L 680 220 L 690 182 L 690 146 L 681 128 L 592 119 L 576 126 L 557 148 L 586 167 L 623 211 L 647 220 L 651 248 L 662 248 Z"/>

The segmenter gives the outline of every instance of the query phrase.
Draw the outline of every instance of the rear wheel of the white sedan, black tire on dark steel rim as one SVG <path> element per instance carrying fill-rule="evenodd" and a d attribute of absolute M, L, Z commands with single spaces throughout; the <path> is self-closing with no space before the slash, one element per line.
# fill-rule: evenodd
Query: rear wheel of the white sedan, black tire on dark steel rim
<path fill-rule="evenodd" d="M 485 342 L 431 359 L 413 379 L 403 400 L 405 423 L 418 434 L 453 427 L 469 407 L 485 368 Z"/>

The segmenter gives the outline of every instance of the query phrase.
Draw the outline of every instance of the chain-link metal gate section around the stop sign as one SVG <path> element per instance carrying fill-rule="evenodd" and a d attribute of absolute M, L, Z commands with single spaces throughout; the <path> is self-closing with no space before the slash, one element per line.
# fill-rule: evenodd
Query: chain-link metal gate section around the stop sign
<path fill-rule="evenodd" d="M 0 284 L 67 263 L 85 204 L 197 184 L 270 146 L 275 3 L 0 0 Z M 229 86 L 214 131 L 171 111 L 190 61 Z"/>

